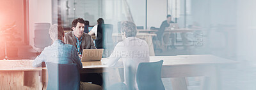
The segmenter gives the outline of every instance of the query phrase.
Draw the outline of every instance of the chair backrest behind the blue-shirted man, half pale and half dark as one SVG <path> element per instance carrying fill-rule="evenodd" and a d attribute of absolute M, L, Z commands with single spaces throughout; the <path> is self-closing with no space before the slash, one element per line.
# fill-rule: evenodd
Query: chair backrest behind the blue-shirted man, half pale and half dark
<path fill-rule="evenodd" d="M 77 64 L 58 64 L 47 62 L 48 85 L 47 90 L 78 90 L 80 74 Z"/>

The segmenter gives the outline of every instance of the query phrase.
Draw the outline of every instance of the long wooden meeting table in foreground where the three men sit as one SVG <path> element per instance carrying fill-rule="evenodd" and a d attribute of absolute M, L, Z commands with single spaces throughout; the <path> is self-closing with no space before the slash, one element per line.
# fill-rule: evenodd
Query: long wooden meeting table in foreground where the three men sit
<path fill-rule="evenodd" d="M 218 75 L 221 68 L 218 66 L 237 63 L 213 55 L 150 56 L 150 62 L 159 60 L 164 60 L 161 77 L 175 77 L 172 80 L 173 89 L 179 90 L 187 89 L 185 77 L 196 76 L 209 77 L 207 89 L 220 89 Z M 47 69 L 32 67 L 32 62 L 33 60 L 0 61 L 0 89 L 42 89 L 44 82 L 47 82 Z M 82 63 L 81 73 L 108 72 L 108 67 L 102 61 Z"/>

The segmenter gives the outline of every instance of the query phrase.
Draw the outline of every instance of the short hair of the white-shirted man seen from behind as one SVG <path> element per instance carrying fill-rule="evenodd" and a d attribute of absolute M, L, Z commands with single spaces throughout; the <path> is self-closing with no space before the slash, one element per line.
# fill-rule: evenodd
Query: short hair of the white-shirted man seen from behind
<path fill-rule="evenodd" d="M 126 37 L 135 37 L 137 35 L 136 25 L 130 21 L 122 21 L 120 23 L 121 31 L 125 32 Z"/>

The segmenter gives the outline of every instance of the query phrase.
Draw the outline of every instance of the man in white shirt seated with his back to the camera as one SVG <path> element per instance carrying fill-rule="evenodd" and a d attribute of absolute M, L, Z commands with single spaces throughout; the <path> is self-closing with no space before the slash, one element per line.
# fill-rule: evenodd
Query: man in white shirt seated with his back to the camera
<path fill-rule="evenodd" d="M 113 53 L 109 56 L 106 64 L 109 67 L 115 66 L 119 59 L 122 59 L 124 65 L 124 76 L 128 74 L 128 68 L 131 67 L 132 74 L 136 74 L 139 63 L 149 61 L 149 49 L 146 41 L 136 37 L 137 29 L 133 22 L 124 21 L 120 23 L 122 38 L 124 41 L 116 44 Z M 136 78 L 136 77 L 135 77 Z M 138 89 L 135 78 L 130 79 L 134 81 L 134 87 Z M 125 78 L 125 84 L 127 79 Z"/>

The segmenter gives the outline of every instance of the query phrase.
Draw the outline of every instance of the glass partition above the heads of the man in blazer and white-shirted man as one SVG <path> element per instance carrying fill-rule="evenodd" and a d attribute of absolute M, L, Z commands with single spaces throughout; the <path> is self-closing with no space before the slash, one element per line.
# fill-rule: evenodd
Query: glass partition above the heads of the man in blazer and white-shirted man
<path fill-rule="evenodd" d="M 103 18 L 105 23 L 113 24 L 113 32 L 117 31 L 117 22 L 131 20 L 137 26 L 143 26 L 145 29 L 146 21 L 146 1 L 136 0 L 60 0 L 52 1 L 58 3 L 58 11 L 54 11 L 52 18 L 59 18 L 58 22 L 63 27 L 71 27 L 74 18 L 83 18 L 88 20 L 90 25 L 97 25 L 98 18 Z M 54 14 L 52 14 L 54 15 Z M 52 20 L 52 22 L 56 22 Z"/>

